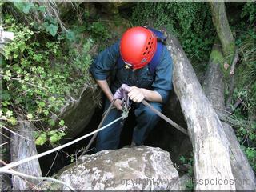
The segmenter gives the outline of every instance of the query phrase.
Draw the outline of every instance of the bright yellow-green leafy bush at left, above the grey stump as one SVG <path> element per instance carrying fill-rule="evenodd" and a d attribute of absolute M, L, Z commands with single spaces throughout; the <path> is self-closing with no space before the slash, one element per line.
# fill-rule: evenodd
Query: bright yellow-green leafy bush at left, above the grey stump
<path fill-rule="evenodd" d="M 2 51 L 2 126 L 16 125 L 16 111 L 22 111 L 42 132 L 36 139 L 38 145 L 58 142 L 66 126 L 62 119 L 53 117 L 65 105 L 66 94 L 78 94 L 84 83 L 90 83 L 93 42 L 87 39 L 78 50 L 66 39 L 40 38 L 42 31 L 22 26 L 10 15 L 5 15 L 4 22 L 6 30 L 14 32 L 14 41 Z M 56 35 L 54 29 L 49 32 Z"/>

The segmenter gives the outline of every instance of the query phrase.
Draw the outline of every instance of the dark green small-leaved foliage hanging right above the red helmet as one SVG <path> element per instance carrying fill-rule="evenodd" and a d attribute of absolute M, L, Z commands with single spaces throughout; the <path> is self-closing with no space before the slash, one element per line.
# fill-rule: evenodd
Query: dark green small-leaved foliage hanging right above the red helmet
<path fill-rule="evenodd" d="M 135 25 L 166 26 L 178 36 L 192 62 L 208 60 L 214 26 L 206 2 L 138 2 L 132 18 Z"/>

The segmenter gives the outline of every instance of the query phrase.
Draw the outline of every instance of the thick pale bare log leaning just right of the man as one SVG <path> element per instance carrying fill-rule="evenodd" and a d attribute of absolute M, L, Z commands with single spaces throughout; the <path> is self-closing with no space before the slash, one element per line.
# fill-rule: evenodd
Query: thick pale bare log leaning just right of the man
<path fill-rule="evenodd" d="M 174 60 L 174 91 L 186 118 L 194 150 L 195 190 L 235 190 L 229 142 L 178 40 L 167 38 Z M 225 182 L 225 184 L 223 184 Z M 220 184 L 222 183 L 222 184 Z"/>

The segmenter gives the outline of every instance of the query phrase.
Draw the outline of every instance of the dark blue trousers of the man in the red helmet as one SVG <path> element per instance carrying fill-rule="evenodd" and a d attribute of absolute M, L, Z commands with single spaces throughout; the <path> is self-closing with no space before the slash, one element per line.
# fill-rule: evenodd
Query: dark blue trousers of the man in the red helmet
<path fill-rule="evenodd" d="M 150 102 L 150 105 L 155 109 L 162 111 L 162 104 L 159 102 Z M 110 101 L 106 99 L 105 111 L 110 106 Z M 150 133 L 150 130 L 158 123 L 159 117 L 154 114 L 150 108 L 144 106 L 142 103 L 135 105 L 134 114 L 136 117 L 137 126 L 134 127 L 133 142 L 136 146 L 141 146 Z M 112 109 L 103 122 L 102 126 L 106 126 L 122 115 L 122 110 Z M 120 141 L 120 134 L 122 132 L 122 121 L 115 122 L 113 125 L 108 126 L 105 130 L 98 133 L 96 141 L 96 151 L 100 150 L 114 150 L 118 148 Z"/>

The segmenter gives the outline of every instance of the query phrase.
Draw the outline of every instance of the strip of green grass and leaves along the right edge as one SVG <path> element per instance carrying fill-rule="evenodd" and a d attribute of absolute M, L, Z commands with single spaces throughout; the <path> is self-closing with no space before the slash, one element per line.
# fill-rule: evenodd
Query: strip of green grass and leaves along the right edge
<path fill-rule="evenodd" d="M 245 19 L 242 26 L 235 26 L 238 30 L 236 45 L 239 48 L 240 63 L 236 69 L 236 88 L 233 94 L 233 103 L 241 101 L 241 104 L 234 109 L 232 117 L 235 121 L 242 122 L 236 134 L 250 165 L 256 172 L 256 28 L 250 25 L 255 22 L 255 3 L 245 3 L 241 18 Z"/>

